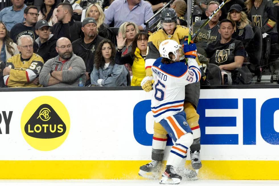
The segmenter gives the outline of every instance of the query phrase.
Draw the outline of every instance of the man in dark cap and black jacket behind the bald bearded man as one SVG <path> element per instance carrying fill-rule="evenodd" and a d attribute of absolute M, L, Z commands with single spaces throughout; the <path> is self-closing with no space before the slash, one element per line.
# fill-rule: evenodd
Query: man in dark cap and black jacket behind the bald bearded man
<path fill-rule="evenodd" d="M 58 55 L 55 50 L 57 38 L 50 34 L 50 26 L 46 20 L 40 20 L 36 23 L 35 32 L 39 36 L 33 43 L 34 53 L 41 56 L 46 62 Z"/>

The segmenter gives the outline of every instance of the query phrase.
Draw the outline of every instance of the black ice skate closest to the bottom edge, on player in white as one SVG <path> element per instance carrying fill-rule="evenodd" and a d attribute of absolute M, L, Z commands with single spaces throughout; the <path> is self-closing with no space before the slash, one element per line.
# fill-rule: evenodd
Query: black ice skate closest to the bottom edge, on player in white
<path fill-rule="evenodd" d="M 167 165 L 160 184 L 179 184 L 182 177 L 178 175 L 172 165 Z"/>

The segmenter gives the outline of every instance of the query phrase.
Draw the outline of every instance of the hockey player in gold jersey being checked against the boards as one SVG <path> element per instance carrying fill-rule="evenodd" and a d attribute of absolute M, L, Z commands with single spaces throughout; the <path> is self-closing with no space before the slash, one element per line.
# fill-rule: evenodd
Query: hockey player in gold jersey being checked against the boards
<path fill-rule="evenodd" d="M 159 45 L 162 41 L 166 39 L 175 40 L 176 42 L 182 44 L 184 42 L 185 36 L 188 36 L 189 29 L 184 26 L 177 25 L 177 15 L 172 8 L 163 9 L 161 12 L 161 27 L 163 29 L 158 30 L 151 34 L 148 39 L 147 46 L 147 56 L 145 60 L 145 70 L 146 76 L 149 76 L 149 80 L 147 80 L 142 88 L 145 91 L 152 90 L 153 84 L 153 76 L 151 71 L 151 66 L 154 61 L 160 57 L 159 53 Z M 182 56 L 184 58 L 184 56 Z M 199 67 L 201 68 L 201 64 L 196 58 Z M 202 68 L 201 68 L 202 70 Z M 198 105 L 198 100 L 200 96 L 200 84 L 192 83 L 185 86 L 185 100 L 184 100 L 184 111 L 186 113 L 186 119 L 190 128 L 193 132 L 194 142 L 190 146 L 190 156 L 192 167 L 194 169 L 200 169 L 202 166 L 200 161 L 200 127 L 198 124 L 199 115 L 196 112 L 196 108 Z M 166 130 L 159 124 L 154 122 L 154 134 L 152 141 L 152 161 L 146 165 L 141 166 L 139 169 L 139 175 L 146 178 L 157 178 L 156 174 L 158 169 L 161 167 L 161 162 L 163 160 L 163 153 L 167 144 L 167 132 Z M 180 170 L 182 176 L 186 178 L 190 178 L 187 175 L 187 169 Z"/>

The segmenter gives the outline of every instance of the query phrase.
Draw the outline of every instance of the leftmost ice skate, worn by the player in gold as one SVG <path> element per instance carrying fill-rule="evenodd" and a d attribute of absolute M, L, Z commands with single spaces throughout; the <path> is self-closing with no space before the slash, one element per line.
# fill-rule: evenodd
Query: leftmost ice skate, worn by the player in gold
<path fill-rule="evenodd" d="M 148 179 L 159 179 L 161 168 L 161 161 L 152 160 L 150 163 L 139 167 L 139 176 Z"/>

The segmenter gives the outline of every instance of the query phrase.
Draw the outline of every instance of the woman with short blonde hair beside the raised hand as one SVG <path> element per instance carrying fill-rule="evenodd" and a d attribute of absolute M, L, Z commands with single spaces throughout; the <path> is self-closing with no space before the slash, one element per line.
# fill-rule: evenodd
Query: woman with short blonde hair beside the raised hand
<path fill-rule="evenodd" d="M 119 49 L 122 48 L 122 56 L 124 56 L 132 51 L 132 43 L 134 41 L 136 34 L 139 33 L 139 29 L 136 23 L 125 22 L 120 25 L 118 30 L 118 35 L 119 33 L 121 33 L 122 38 L 125 41 L 125 44 L 123 47 L 117 46 L 117 51 L 119 51 Z M 128 70 L 130 71 L 130 75 L 132 76 L 133 73 L 130 64 L 128 64 L 127 62 L 125 63 L 125 66 L 128 68 Z"/>

